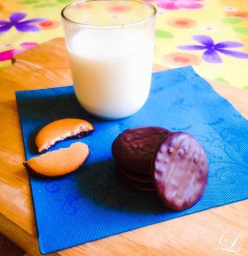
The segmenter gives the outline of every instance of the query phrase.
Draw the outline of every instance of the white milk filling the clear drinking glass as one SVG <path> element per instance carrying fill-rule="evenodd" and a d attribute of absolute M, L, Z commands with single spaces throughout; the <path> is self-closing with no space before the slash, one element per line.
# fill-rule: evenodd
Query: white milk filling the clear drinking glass
<path fill-rule="evenodd" d="M 139 110 L 150 91 L 152 40 L 134 28 L 87 29 L 75 34 L 67 47 L 82 107 L 105 119 Z"/>

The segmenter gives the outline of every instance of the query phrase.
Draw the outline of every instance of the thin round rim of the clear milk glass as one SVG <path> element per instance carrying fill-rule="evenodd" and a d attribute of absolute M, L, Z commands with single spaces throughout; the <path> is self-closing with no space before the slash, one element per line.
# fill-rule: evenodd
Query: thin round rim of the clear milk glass
<path fill-rule="evenodd" d="M 148 3 L 148 2 L 144 2 L 141 0 L 122 0 L 124 2 L 136 2 L 136 3 L 140 3 L 143 5 L 147 5 L 149 6 L 152 10 L 153 10 L 153 14 L 147 18 L 141 19 L 139 21 L 135 21 L 135 22 L 130 22 L 130 23 L 126 23 L 126 24 L 118 24 L 118 25 L 93 25 L 93 24 L 87 24 L 87 23 L 80 23 L 80 22 L 76 22 L 76 21 L 72 21 L 72 19 L 69 19 L 65 16 L 64 12 L 75 6 L 78 5 L 80 3 L 86 3 L 86 2 L 99 2 L 99 1 L 105 1 L 106 0 L 82 0 L 82 1 L 77 1 L 71 4 L 66 5 L 62 10 L 61 10 L 61 17 L 63 19 L 65 19 L 67 22 L 72 23 L 73 25 L 77 25 L 79 27 L 84 27 L 84 28 L 99 28 L 99 29 L 114 29 L 114 28 L 126 28 L 126 27 L 134 27 L 135 25 L 140 25 L 143 23 L 146 23 L 148 21 L 150 21 L 151 19 L 153 19 L 156 14 L 157 14 L 157 9 L 155 8 L 154 5 Z M 117 0 L 116 0 L 117 1 Z"/>

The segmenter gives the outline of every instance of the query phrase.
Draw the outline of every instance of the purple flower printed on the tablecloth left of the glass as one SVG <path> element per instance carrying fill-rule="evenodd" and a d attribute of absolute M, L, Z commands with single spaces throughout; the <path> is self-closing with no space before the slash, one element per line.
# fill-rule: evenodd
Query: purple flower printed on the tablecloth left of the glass
<path fill-rule="evenodd" d="M 0 34 L 5 33 L 10 30 L 12 27 L 15 27 L 19 32 L 37 32 L 40 28 L 31 23 L 45 21 L 45 18 L 33 18 L 28 19 L 27 21 L 21 21 L 26 17 L 26 14 L 23 12 L 14 12 L 10 15 L 10 21 L 0 21 Z"/>

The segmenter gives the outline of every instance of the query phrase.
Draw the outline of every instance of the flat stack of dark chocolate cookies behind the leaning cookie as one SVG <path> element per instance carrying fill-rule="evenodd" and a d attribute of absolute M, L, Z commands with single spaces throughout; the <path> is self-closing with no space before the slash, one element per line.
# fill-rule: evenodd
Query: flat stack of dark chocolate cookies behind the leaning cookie
<path fill-rule="evenodd" d="M 170 131 L 161 127 L 147 126 L 125 130 L 112 145 L 116 172 L 128 186 L 154 191 L 150 167 L 155 149 Z"/>

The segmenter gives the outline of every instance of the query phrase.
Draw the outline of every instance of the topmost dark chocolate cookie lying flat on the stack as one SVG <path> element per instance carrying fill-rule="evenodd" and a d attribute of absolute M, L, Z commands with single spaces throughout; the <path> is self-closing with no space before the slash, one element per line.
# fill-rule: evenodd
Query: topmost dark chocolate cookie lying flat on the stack
<path fill-rule="evenodd" d="M 133 172 L 150 173 L 151 159 L 169 130 L 144 126 L 122 132 L 113 142 L 112 155 L 118 165 Z"/>

